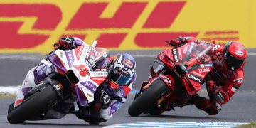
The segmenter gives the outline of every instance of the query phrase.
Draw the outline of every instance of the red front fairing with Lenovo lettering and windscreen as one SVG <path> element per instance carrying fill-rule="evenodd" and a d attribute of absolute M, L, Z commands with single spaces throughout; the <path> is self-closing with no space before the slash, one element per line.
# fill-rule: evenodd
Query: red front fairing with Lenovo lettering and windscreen
<path fill-rule="evenodd" d="M 158 59 L 164 62 L 169 69 L 174 69 L 175 65 L 178 65 L 179 63 L 186 65 L 191 59 L 196 58 L 200 63 L 194 63 L 191 67 L 187 67 L 186 69 L 188 70 L 188 73 L 181 77 L 181 81 L 186 87 L 188 94 L 195 95 L 196 92 L 201 90 L 201 85 L 203 84 L 206 75 L 213 68 L 210 56 L 206 55 L 206 52 L 209 49 L 210 48 L 206 48 L 206 46 L 201 44 L 193 42 L 186 43 L 178 48 L 163 50 L 162 53 L 159 53 Z M 202 58 L 206 61 L 201 61 Z"/>

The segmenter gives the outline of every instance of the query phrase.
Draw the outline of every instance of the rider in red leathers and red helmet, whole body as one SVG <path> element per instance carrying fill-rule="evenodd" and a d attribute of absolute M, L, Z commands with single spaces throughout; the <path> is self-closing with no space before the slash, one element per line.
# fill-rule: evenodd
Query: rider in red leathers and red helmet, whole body
<path fill-rule="evenodd" d="M 183 46 L 183 44 L 188 42 L 213 46 L 211 53 L 213 70 L 209 73 L 208 80 L 206 80 L 208 97 L 210 99 L 197 94 L 191 99 L 189 104 L 195 105 L 198 109 L 204 110 L 209 115 L 218 114 L 222 109 L 222 105 L 226 104 L 242 86 L 247 50 L 238 41 L 229 41 L 225 45 L 200 41 L 194 37 L 177 37 L 174 40 L 167 41 L 167 43 L 174 47 Z"/>

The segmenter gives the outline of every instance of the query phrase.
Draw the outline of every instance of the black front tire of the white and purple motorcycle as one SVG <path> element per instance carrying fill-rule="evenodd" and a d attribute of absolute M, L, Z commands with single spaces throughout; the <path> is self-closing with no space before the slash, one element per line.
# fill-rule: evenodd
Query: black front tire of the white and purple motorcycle
<path fill-rule="evenodd" d="M 26 100 L 21 102 L 14 110 L 9 108 L 10 112 L 7 116 L 7 120 L 11 124 L 23 123 L 26 119 L 31 118 L 34 114 L 41 112 L 49 103 L 53 103 L 58 98 L 58 94 L 51 85 L 40 92 L 36 92 Z M 11 107 L 11 105 L 9 106 Z"/>

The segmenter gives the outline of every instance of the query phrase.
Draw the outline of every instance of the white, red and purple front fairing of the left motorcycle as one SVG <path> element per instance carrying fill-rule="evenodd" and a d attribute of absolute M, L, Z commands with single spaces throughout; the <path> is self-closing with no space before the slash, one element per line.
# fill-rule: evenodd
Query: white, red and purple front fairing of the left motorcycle
<path fill-rule="evenodd" d="M 55 50 L 49 57 L 50 62 L 58 69 L 58 73 L 65 74 L 68 70 L 73 70 L 79 79 L 79 82 L 75 83 L 72 89 L 81 106 L 94 100 L 97 87 L 107 78 L 107 71 L 94 71 L 92 68 L 95 67 L 95 61 L 106 56 L 107 52 L 105 48 L 92 50 L 92 47 L 84 43 L 73 50 Z"/>

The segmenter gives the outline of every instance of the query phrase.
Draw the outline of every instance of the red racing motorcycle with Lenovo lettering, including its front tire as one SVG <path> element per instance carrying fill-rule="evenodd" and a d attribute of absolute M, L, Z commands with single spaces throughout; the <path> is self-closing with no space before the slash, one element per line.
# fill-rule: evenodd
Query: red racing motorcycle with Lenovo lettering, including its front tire
<path fill-rule="evenodd" d="M 129 106 L 129 115 L 159 115 L 187 105 L 213 68 L 212 48 L 210 44 L 191 42 L 159 53 L 148 81 L 142 83 Z"/>

